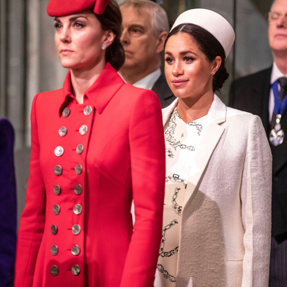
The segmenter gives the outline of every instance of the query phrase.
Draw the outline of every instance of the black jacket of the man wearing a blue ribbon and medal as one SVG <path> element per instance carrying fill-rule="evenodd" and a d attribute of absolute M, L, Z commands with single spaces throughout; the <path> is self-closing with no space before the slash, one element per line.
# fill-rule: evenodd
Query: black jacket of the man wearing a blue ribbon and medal
<path fill-rule="evenodd" d="M 272 67 L 232 82 L 230 107 L 259 115 L 270 133 L 269 95 Z M 284 142 L 274 147 L 270 145 L 272 163 L 272 236 L 278 242 L 287 239 L 287 110 L 281 118 L 281 128 L 285 132 Z"/>

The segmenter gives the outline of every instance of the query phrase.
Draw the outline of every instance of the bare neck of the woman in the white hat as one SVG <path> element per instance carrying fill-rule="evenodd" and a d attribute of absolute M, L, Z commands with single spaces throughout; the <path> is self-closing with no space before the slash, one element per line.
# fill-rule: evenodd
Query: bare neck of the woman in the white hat
<path fill-rule="evenodd" d="M 194 98 L 179 98 L 177 112 L 180 118 L 188 123 L 207 115 L 214 99 L 213 91 Z"/>

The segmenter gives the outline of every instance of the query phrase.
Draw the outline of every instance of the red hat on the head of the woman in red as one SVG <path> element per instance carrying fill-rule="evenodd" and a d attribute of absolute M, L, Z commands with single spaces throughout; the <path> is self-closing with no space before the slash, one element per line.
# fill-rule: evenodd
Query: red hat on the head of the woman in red
<path fill-rule="evenodd" d="M 50 0 L 47 13 L 50 17 L 62 17 L 93 8 L 95 14 L 102 14 L 109 0 Z"/>

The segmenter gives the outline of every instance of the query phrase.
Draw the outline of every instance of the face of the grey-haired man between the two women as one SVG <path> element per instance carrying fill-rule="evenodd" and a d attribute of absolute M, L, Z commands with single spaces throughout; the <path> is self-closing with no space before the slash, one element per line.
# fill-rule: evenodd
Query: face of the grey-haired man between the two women
<path fill-rule="evenodd" d="M 145 69 L 156 59 L 158 38 L 151 27 L 151 17 L 145 9 L 122 8 L 122 26 L 120 41 L 124 46 L 126 60 L 124 69 Z"/>

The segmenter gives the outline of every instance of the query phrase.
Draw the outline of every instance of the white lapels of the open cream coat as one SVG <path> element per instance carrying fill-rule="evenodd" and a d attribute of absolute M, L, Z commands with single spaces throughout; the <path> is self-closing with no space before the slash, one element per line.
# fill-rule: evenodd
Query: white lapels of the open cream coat
<path fill-rule="evenodd" d="M 163 124 L 167 123 L 169 116 L 176 107 L 178 99 L 176 99 L 169 107 L 163 109 Z M 214 95 L 214 100 L 212 106 L 207 113 L 207 118 L 203 127 L 203 133 L 198 142 L 198 149 L 194 154 L 194 168 L 196 172 L 193 172 L 188 178 L 187 189 L 185 191 L 185 200 L 183 202 L 183 210 L 189 201 L 192 201 L 192 195 L 198 190 L 199 183 L 204 175 L 204 171 L 207 167 L 207 163 L 212 156 L 212 153 L 219 142 L 224 127 L 221 126 L 223 122 L 226 121 L 226 111 L 227 108 L 223 102 Z"/>

